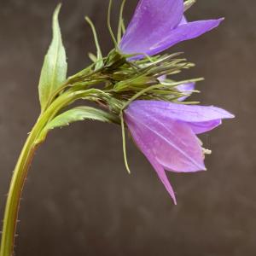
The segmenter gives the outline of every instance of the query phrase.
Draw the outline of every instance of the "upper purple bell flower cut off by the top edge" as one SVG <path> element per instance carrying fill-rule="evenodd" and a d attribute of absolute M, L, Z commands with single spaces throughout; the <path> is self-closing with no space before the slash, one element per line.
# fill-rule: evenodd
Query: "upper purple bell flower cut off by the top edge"
<path fill-rule="evenodd" d="M 183 12 L 183 0 L 140 0 L 119 49 L 125 54 L 155 55 L 201 36 L 224 20 L 187 22 Z"/>

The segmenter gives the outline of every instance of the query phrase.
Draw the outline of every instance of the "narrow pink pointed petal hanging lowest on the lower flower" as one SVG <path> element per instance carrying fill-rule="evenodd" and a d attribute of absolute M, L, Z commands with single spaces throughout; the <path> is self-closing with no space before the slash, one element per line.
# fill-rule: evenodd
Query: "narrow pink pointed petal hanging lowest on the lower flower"
<path fill-rule="evenodd" d="M 142 137 L 140 137 L 140 133 L 137 131 L 137 125 L 131 119 L 126 119 L 126 124 L 128 125 L 129 130 L 131 131 L 131 136 L 133 137 L 135 143 L 137 143 L 137 147 L 142 150 L 143 154 L 147 157 L 150 164 L 154 167 L 154 170 L 160 177 L 161 182 L 165 185 L 169 195 L 171 195 L 174 204 L 177 205 L 176 197 L 172 189 L 172 186 L 168 178 L 166 177 L 166 172 L 164 168 L 160 165 L 160 163 L 157 162 L 150 148 L 148 148 L 148 146 L 145 145 L 145 142 L 143 141 Z"/>

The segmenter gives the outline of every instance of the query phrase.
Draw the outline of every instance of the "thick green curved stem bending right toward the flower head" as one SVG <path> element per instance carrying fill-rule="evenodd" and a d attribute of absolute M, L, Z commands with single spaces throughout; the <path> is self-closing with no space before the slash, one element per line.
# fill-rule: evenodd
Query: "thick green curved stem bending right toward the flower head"
<path fill-rule="evenodd" d="M 51 119 L 53 119 L 62 108 L 67 107 L 70 103 L 78 100 L 79 98 L 85 99 L 86 97 L 93 96 L 96 92 L 99 92 L 99 90 L 91 89 L 85 91 L 67 91 L 66 93 L 63 93 L 61 96 L 57 97 L 49 108 L 39 116 L 37 123 L 32 128 L 32 131 L 27 137 L 26 143 L 21 150 L 20 157 L 15 166 L 15 171 L 10 183 L 3 218 L 0 256 L 13 255 L 20 196 L 33 155 L 38 148 L 38 145 L 44 142 L 45 136 L 40 136 L 44 126 Z"/>

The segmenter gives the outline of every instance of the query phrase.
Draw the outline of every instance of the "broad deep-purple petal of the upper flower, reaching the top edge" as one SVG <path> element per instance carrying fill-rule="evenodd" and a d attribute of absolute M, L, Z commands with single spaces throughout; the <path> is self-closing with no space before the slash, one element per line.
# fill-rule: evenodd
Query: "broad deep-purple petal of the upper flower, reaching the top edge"
<path fill-rule="evenodd" d="M 183 0 L 141 0 L 119 48 L 125 54 L 148 54 L 154 44 L 172 32 L 182 16 Z"/>

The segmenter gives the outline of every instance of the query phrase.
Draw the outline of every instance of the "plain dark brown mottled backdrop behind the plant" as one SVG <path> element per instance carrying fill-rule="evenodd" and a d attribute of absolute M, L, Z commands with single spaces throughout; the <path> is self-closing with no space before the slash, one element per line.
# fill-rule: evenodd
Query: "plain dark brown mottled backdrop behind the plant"
<path fill-rule="evenodd" d="M 0 0 L 1 216 L 15 161 L 38 117 L 38 77 L 57 2 Z M 127 2 L 126 21 L 137 1 Z M 95 21 L 105 54 L 112 48 L 107 9 L 107 0 L 63 1 L 69 74 L 87 65 L 87 52 L 95 49 L 84 15 Z M 118 9 L 116 0 L 113 17 Z M 18 256 L 255 255 L 255 9 L 254 0 L 198 1 L 189 20 L 226 20 L 171 49 L 197 64 L 184 76 L 206 78 L 196 99 L 236 113 L 201 137 L 213 150 L 208 172 L 170 173 L 177 207 L 131 142 L 127 175 L 119 127 L 77 123 L 52 131 L 33 161 L 20 208 Z"/>

